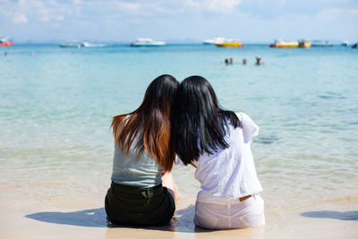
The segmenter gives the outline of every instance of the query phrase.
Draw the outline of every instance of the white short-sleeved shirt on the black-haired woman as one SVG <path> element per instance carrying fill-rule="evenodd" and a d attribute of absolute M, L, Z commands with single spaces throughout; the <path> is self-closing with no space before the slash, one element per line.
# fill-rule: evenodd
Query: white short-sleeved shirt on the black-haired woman
<path fill-rule="evenodd" d="M 195 178 L 201 184 L 197 201 L 230 200 L 262 191 L 250 147 L 260 128 L 248 115 L 236 115 L 243 127 L 234 129 L 228 124 L 225 141 L 229 147 L 200 155 L 199 161 L 193 162 L 197 166 Z"/>

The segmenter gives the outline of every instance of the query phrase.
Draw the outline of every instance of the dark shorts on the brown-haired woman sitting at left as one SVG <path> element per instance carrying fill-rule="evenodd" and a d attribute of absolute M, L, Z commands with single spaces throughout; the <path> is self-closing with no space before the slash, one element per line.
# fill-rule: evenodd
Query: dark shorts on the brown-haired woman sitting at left
<path fill-rule="evenodd" d="M 108 219 L 123 226 L 164 226 L 175 212 L 173 196 L 159 184 L 151 188 L 115 184 L 107 191 Z"/>

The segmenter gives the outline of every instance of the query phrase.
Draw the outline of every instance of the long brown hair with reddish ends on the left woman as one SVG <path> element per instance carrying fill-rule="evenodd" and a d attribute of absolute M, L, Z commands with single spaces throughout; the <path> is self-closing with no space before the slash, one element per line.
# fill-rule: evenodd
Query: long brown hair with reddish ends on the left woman
<path fill-rule="evenodd" d="M 141 106 L 132 113 L 113 117 L 111 127 L 115 143 L 119 143 L 125 155 L 132 149 L 137 158 L 144 152 L 163 166 L 164 172 L 172 169 L 175 161 L 175 150 L 170 137 L 170 110 L 178 81 L 168 74 L 158 76 L 149 84 Z M 122 129 L 122 130 L 121 130 Z"/>

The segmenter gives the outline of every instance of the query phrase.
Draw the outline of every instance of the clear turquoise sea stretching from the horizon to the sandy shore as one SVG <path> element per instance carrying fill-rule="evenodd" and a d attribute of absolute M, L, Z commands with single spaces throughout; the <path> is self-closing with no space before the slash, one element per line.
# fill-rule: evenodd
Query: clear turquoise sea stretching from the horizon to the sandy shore
<path fill-rule="evenodd" d="M 254 65 L 255 55 L 266 64 Z M 228 57 L 233 65 L 222 64 Z M 138 107 L 149 82 L 169 73 L 179 81 L 207 78 L 223 107 L 260 126 L 252 151 L 268 200 L 280 192 L 356 195 L 357 65 L 350 47 L 0 48 L 0 184 L 86 182 L 98 185 L 87 191 L 104 192 L 111 117 Z M 194 197 L 192 173 L 174 171 L 179 188 Z"/>

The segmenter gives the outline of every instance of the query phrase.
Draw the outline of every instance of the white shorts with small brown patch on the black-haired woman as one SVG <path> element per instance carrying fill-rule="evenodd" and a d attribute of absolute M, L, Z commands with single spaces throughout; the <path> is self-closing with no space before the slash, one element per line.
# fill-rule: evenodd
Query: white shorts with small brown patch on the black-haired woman
<path fill-rule="evenodd" d="M 209 229 L 264 226 L 264 202 L 259 194 L 245 201 L 196 201 L 194 223 Z"/>

